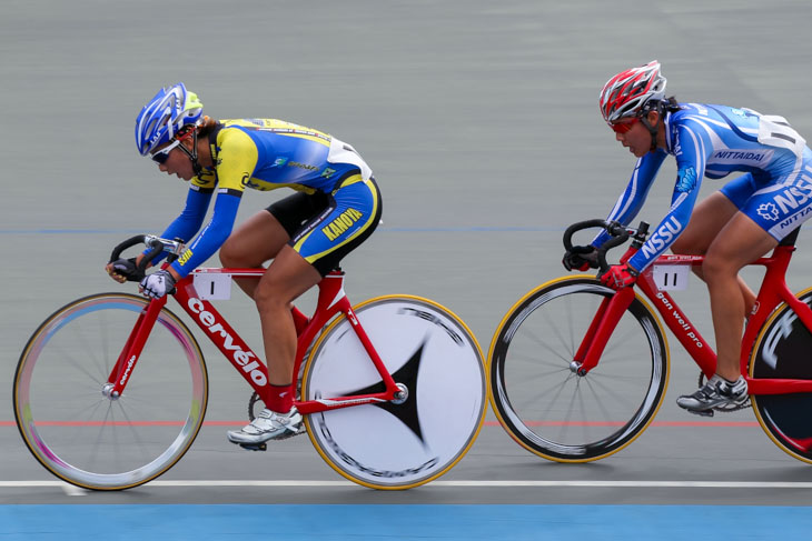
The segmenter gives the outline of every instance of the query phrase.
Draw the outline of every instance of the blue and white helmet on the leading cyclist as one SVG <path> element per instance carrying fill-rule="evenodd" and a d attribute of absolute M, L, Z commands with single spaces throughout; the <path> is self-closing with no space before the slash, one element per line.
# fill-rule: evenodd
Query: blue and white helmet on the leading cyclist
<path fill-rule="evenodd" d="M 202 103 L 182 82 L 160 89 L 136 119 L 136 147 L 147 156 L 202 117 Z"/>

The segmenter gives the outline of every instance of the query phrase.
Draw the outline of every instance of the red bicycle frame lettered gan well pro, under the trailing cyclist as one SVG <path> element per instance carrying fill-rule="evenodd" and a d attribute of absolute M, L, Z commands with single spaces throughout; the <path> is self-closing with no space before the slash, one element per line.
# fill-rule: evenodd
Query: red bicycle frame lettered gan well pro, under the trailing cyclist
<path fill-rule="evenodd" d="M 800 318 L 803 324 L 812 331 L 812 310 L 804 302 L 800 301 L 786 285 L 784 275 L 795 250 L 793 244 L 779 244 L 770 257 L 760 258 L 750 264 L 759 264 L 766 268 L 759 295 L 755 301 L 756 309 L 751 314 L 744 335 L 742 338 L 741 372 L 747 381 L 751 394 L 782 394 L 790 392 L 812 392 L 811 380 L 793 379 L 769 379 L 750 378 L 747 374 L 747 360 L 751 353 L 751 345 L 764 322 L 775 308 L 785 302 Z M 627 261 L 637 249 L 630 247 L 621 258 L 621 262 Z M 710 378 L 716 371 L 716 353 L 702 338 L 699 330 L 691 323 L 691 320 L 680 309 L 676 301 L 667 291 L 661 291 L 654 282 L 654 266 L 686 266 L 699 267 L 704 261 L 702 256 L 661 256 L 648 266 L 637 278 L 636 287 L 653 303 L 660 312 L 665 324 L 671 329 L 676 339 L 682 343 L 685 351 L 696 362 L 705 377 Z M 598 307 L 597 313 L 575 353 L 575 361 L 581 362 L 580 374 L 586 374 L 594 369 L 603 350 L 608 342 L 612 332 L 617 325 L 621 317 L 634 300 L 634 289 L 623 288 L 614 295 L 606 298 Z"/>

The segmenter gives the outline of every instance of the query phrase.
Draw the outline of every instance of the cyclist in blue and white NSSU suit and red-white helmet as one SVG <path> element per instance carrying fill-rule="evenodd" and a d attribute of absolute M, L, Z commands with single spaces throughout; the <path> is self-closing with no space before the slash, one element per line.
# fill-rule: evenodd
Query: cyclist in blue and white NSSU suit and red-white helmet
<path fill-rule="evenodd" d="M 697 274 L 711 298 L 716 373 L 699 391 L 676 402 L 700 414 L 720 405 L 742 404 L 747 399 L 739 364 L 742 325 L 757 305 L 739 271 L 812 216 L 812 151 L 782 117 L 666 99 L 665 78 L 656 61 L 610 79 L 600 107 L 615 139 L 637 157 L 628 186 L 608 219 L 627 224 L 669 154 L 677 167 L 665 218 L 637 253 L 626 263 L 613 266 L 602 280 L 615 289 L 626 287 L 669 248 L 680 254 L 704 254 Z M 733 172 L 742 174 L 695 204 L 704 177 L 721 179 Z M 566 253 L 565 267 L 585 270 L 587 264 L 594 266 L 594 249 L 607 238 L 603 232 L 591 247 Z"/>

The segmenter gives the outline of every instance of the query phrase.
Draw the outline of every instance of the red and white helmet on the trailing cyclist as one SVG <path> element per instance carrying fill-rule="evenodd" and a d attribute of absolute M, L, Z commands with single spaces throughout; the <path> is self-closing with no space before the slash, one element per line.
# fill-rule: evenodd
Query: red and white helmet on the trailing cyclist
<path fill-rule="evenodd" d="M 601 90 L 601 113 L 606 122 L 613 123 L 635 117 L 648 101 L 664 98 L 665 78 L 660 74 L 660 62 L 653 60 L 606 81 Z"/>

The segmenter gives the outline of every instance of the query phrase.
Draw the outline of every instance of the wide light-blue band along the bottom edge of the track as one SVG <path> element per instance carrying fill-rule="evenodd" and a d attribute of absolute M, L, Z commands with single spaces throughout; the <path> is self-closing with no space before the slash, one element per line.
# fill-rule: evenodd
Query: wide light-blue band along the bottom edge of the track
<path fill-rule="evenodd" d="M 812 508 L 746 505 L 2 505 L 0 539 L 809 539 Z"/>

